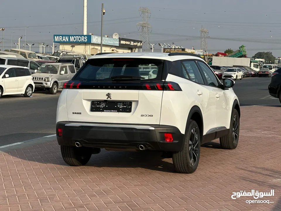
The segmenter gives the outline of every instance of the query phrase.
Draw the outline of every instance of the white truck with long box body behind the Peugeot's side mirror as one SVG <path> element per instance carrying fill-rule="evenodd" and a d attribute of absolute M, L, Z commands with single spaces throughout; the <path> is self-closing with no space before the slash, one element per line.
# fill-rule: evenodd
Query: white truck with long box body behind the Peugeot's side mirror
<path fill-rule="evenodd" d="M 259 61 L 252 60 L 251 58 L 234 58 L 234 57 L 213 57 L 210 65 L 217 66 L 246 66 L 251 67 L 253 70 L 258 71 L 260 69 Z"/>

